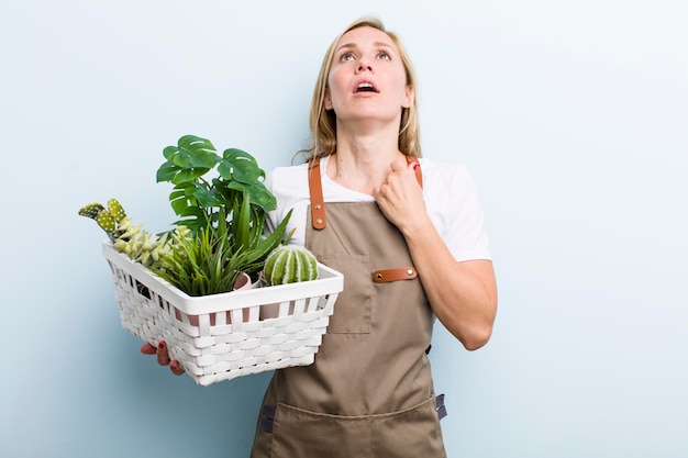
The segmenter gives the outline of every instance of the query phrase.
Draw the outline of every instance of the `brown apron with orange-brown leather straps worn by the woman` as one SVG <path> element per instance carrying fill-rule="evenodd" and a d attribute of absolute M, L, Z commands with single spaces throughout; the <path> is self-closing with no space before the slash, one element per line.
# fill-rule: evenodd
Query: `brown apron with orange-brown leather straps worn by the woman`
<path fill-rule="evenodd" d="M 403 236 L 375 202 L 328 203 L 325 222 L 319 161 L 309 172 L 306 246 L 344 290 L 315 362 L 275 372 L 252 457 L 445 457 L 433 314 Z"/>

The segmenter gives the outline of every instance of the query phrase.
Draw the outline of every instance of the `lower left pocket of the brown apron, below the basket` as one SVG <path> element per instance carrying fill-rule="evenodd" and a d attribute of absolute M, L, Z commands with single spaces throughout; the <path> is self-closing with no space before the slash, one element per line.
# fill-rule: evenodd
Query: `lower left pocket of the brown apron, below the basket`
<path fill-rule="evenodd" d="M 369 458 L 370 417 L 313 413 L 278 404 L 273 458 Z"/>

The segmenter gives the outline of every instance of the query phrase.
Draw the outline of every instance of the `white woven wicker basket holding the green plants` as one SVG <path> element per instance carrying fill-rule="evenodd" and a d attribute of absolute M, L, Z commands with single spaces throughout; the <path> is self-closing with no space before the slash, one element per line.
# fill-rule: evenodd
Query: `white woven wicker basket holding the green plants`
<path fill-rule="evenodd" d="M 313 362 L 342 273 L 322 264 L 319 279 L 190 297 L 103 242 L 122 326 L 152 345 L 165 340 L 201 386 Z M 264 309 L 279 304 L 276 317 Z"/>

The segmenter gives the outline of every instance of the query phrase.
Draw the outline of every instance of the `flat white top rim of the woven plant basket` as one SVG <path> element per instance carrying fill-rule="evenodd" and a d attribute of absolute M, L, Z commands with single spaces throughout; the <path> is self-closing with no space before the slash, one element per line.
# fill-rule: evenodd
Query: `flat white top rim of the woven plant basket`
<path fill-rule="evenodd" d="M 317 280 L 191 297 L 157 277 L 142 264 L 135 262 L 123 253 L 118 252 L 108 239 L 102 242 L 102 254 L 110 262 L 124 270 L 171 305 L 192 315 L 326 295 L 339 293 L 344 288 L 343 273 L 318 262 L 319 278 Z"/>

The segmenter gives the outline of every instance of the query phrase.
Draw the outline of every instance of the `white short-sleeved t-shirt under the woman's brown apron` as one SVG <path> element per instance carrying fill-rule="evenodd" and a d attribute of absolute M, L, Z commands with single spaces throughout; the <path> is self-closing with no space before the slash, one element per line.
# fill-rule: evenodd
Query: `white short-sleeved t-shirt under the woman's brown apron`
<path fill-rule="evenodd" d="M 371 196 L 353 191 L 336 183 L 325 174 L 328 157 L 320 170 L 322 192 L 326 202 L 373 202 Z M 423 171 L 423 199 L 431 221 L 456 260 L 490 259 L 488 238 L 482 224 L 482 211 L 475 183 L 465 167 L 419 159 Z M 306 224 L 310 204 L 308 165 L 278 167 L 265 180 L 277 198 L 277 210 L 268 214 L 271 230 L 293 209 L 287 233 L 296 228 L 292 244 L 306 244 Z M 326 211 L 326 205 L 325 205 Z"/>

